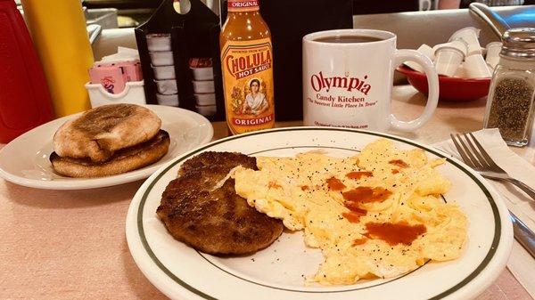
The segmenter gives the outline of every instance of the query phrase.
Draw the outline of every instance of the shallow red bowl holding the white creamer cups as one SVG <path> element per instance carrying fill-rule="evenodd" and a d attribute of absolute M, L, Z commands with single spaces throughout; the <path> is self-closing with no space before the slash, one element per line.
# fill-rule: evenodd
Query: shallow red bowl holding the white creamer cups
<path fill-rule="evenodd" d="M 427 94 L 427 77 L 414 69 L 401 65 L 399 73 L 407 76 L 408 83 Z M 457 78 L 439 76 L 439 99 L 442 101 L 473 101 L 489 93 L 490 77 Z"/>

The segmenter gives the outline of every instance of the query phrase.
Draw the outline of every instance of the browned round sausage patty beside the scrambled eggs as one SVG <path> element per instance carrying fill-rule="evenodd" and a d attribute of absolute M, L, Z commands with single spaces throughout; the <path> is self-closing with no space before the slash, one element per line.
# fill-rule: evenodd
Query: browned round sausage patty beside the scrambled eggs
<path fill-rule="evenodd" d="M 268 247 L 280 236 L 282 221 L 250 207 L 236 194 L 234 179 L 214 190 L 240 165 L 257 170 L 256 158 L 241 153 L 204 152 L 185 161 L 156 211 L 175 239 L 205 253 L 239 255 Z"/>

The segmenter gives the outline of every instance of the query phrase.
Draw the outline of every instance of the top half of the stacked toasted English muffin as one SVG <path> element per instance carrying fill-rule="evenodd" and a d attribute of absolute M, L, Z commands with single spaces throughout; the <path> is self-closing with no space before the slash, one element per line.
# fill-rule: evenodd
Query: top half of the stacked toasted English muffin
<path fill-rule="evenodd" d="M 53 149 L 62 158 L 109 160 L 117 150 L 151 140 L 161 119 L 135 104 L 103 105 L 67 121 L 53 136 Z"/>

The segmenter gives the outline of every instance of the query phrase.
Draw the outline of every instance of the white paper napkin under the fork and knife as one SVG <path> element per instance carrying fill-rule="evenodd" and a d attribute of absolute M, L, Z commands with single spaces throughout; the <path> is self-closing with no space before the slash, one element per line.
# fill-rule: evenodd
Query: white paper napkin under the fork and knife
<path fill-rule="evenodd" d="M 532 166 L 528 161 L 510 150 L 499 134 L 498 129 L 483 129 L 474 132 L 473 135 L 481 143 L 481 146 L 487 150 L 490 158 L 504 169 L 507 174 L 535 189 L 535 166 Z M 457 149 L 451 140 L 437 142 L 434 146 L 461 161 L 463 160 L 458 155 Z M 531 231 L 535 232 L 535 201 L 510 183 L 492 180 L 488 180 L 488 182 L 503 196 L 507 208 L 518 216 Z M 507 268 L 530 293 L 531 297 L 535 298 L 535 258 L 531 257 L 516 240 L 514 240 L 513 252 L 507 262 Z"/>

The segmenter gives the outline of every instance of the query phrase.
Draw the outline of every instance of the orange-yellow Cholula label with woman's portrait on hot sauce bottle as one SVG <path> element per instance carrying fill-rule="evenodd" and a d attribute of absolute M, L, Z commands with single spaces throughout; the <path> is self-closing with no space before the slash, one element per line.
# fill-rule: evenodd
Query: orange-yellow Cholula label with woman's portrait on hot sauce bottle
<path fill-rule="evenodd" d="M 227 41 L 221 51 L 226 124 L 232 134 L 275 126 L 272 53 L 269 38 Z"/>

